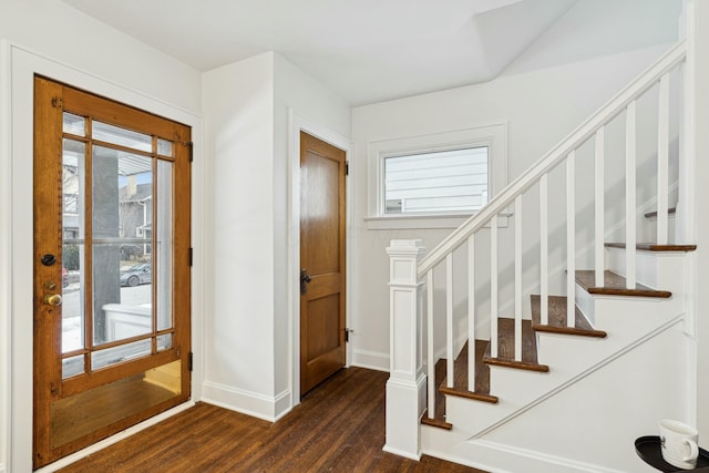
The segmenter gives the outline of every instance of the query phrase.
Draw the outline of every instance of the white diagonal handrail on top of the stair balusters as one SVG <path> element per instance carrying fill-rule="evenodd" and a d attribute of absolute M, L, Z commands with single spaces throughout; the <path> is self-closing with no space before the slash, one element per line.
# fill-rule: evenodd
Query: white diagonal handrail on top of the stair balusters
<path fill-rule="evenodd" d="M 569 133 L 559 144 L 554 146 L 546 155 L 537 161 L 526 173 L 522 174 L 487 205 L 471 216 L 460 227 L 453 230 L 443 241 L 433 248 L 419 264 L 418 276 L 423 278 L 427 271 L 441 263 L 449 253 L 461 246 L 467 237 L 481 229 L 490 219 L 508 207 L 514 199 L 536 184 L 540 178 L 552 171 L 556 165 L 566 160 L 568 153 L 576 150 L 596 131 L 610 122 L 623 112 L 630 102 L 647 92 L 660 78 L 685 60 L 687 45 L 685 41 L 677 43 L 660 59 L 638 75 L 618 94 L 610 99 L 586 122 Z"/>

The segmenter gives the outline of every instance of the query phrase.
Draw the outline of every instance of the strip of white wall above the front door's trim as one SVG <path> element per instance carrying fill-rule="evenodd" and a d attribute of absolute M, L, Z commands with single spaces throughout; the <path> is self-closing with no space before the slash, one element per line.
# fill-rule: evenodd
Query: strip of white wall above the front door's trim
<path fill-rule="evenodd" d="M 0 38 L 187 110 L 201 110 L 195 69 L 59 0 L 1 0 Z"/>

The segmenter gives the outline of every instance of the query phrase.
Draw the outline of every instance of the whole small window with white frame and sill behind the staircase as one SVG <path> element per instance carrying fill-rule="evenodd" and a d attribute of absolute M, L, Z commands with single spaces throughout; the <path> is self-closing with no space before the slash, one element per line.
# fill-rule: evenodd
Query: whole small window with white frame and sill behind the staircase
<path fill-rule="evenodd" d="M 505 123 L 369 141 L 370 229 L 455 228 L 507 184 Z"/>

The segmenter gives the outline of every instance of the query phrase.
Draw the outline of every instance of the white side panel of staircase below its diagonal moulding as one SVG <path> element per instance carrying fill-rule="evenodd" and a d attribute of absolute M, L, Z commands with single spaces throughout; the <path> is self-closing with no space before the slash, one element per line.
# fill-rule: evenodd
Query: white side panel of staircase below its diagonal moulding
<path fill-rule="evenodd" d="M 491 407 L 465 402 L 467 419 L 449 414 L 451 432 L 422 429 L 423 452 L 495 472 L 654 471 L 639 461 L 633 441 L 654 434 L 662 417 L 685 417 L 688 343 L 681 316 L 670 318 L 484 430 L 471 432 L 464 422 Z M 451 401 L 449 408 L 463 404 Z"/>

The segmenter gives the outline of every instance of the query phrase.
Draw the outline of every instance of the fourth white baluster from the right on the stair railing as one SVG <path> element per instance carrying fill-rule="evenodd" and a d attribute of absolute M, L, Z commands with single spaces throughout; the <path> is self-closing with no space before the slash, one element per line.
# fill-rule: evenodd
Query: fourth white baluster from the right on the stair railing
<path fill-rule="evenodd" d="M 576 152 L 566 158 L 566 326 L 576 325 Z"/>

